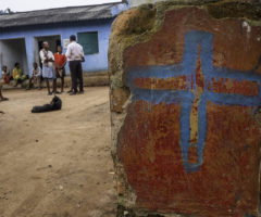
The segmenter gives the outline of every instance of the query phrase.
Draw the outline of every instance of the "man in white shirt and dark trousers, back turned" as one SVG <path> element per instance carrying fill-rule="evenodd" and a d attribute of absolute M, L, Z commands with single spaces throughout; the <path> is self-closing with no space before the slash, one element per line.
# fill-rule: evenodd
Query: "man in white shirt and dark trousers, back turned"
<path fill-rule="evenodd" d="M 72 35 L 70 37 L 70 44 L 67 46 L 66 58 L 69 61 L 69 67 L 72 78 L 72 92 L 74 95 L 78 92 L 84 93 L 84 79 L 83 79 L 83 67 L 82 62 L 84 61 L 84 49 L 80 44 L 76 42 L 76 36 Z"/>

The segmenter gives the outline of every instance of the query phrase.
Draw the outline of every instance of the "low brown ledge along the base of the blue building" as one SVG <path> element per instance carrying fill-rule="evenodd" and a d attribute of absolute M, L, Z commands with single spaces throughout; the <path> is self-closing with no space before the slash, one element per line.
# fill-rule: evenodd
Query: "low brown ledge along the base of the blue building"
<path fill-rule="evenodd" d="M 12 80 L 10 85 L 3 85 L 3 90 L 9 89 L 23 89 L 28 87 L 29 80 L 25 80 L 22 85 L 17 87 L 14 86 L 14 81 Z M 61 86 L 61 79 L 58 79 L 58 87 Z M 95 73 L 84 73 L 84 86 L 85 87 L 99 87 L 99 86 L 109 86 L 109 76 L 108 72 L 95 72 Z M 35 84 L 34 87 L 37 87 Z M 46 88 L 46 82 L 41 81 L 41 87 Z M 64 80 L 64 87 L 71 87 L 71 77 L 67 75 Z"/>

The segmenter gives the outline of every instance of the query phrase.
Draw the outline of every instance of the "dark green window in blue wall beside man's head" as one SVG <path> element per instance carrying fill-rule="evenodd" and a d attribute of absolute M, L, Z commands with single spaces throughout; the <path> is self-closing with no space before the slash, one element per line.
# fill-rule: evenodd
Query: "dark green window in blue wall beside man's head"
<path fill-rule="evenodd" d="M 99 53 L 98 31 L 78 33 L 77 39 L 85 54 Z"/>

